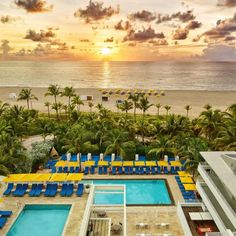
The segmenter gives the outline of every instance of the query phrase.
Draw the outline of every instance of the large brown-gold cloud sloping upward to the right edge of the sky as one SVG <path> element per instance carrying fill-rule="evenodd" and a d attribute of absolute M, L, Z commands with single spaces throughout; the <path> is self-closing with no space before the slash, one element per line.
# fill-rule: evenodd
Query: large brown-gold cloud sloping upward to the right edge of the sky
<path fill-rule="evenodd" d="M 236 31 L 236 13 L 232 18 L 218 20 L 216 27 L 206 31 L 203 35 L 208 39 L 222 39 Z"/>

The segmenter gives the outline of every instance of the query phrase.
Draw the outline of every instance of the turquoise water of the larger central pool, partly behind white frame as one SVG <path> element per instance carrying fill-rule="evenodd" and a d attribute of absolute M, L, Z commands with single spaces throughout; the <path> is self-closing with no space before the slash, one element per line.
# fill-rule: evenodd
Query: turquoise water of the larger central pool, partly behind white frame
<path fill-rule="evenodd" d="M 93 180 L 92 182 L 97 185 L 125 184 L 128 205 L 172 204 L 165 180 Z M 94 203 L 122 204 L 123 194 L 95 193 Z"/>

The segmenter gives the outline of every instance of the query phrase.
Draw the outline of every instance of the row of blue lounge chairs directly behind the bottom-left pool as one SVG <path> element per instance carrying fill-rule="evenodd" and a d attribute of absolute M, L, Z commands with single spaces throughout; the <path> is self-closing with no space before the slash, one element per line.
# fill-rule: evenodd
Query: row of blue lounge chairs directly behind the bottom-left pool
<path fill-rule="evenodd" d="M 22 197 L 27 192 L 28 184 L 17 184 L 15 190 L 13 190 L 14 185 L 13 183 L 9 183 L 7 186 L 7 189 L 3 193 L 3 195 L 8 196 L 12 193 L 13 196 L 16 197 Z M 83 195 L 84 191 L 84 184 L 79 183 L 76 195 L 78 197 L 81 197 Z M 58 193 L 58 184 L 56 183 L 48 183 L 46 185 L 46 190 L 43 192 L 43 184 L 33 184 L 30 191 L 29 196 L 30 197 L 39 197 L 42 193 L 44 193 L 44 196 L 46 197 L 55 197 Z M 62 197 L 70 197 L 74 193 L 74 184 L 72 183 L 63 183 L 60 195 Z"/>

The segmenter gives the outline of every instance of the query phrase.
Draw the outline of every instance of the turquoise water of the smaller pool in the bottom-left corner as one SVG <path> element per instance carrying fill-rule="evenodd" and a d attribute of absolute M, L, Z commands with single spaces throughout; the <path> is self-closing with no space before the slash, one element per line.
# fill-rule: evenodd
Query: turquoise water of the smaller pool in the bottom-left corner
<path fill-rule="evenodd" d="M 26 205 L 7 236 L 60 236 L 71 205 Z"/>

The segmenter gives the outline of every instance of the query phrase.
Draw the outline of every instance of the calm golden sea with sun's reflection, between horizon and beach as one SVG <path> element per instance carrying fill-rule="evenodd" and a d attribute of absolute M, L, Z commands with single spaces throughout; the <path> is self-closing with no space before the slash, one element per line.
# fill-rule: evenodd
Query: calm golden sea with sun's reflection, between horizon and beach
<path fill-rule="evenodd" d="M 231 62 L 0 62 L 0 86 L 234 90 Z"/>

